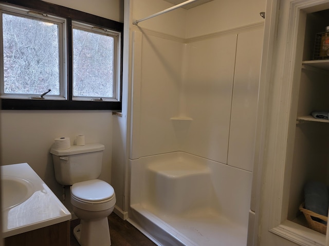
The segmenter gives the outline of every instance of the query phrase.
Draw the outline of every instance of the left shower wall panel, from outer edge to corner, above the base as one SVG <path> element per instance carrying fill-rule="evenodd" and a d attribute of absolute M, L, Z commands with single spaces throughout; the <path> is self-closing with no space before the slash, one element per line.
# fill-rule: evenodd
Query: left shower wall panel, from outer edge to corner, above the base
<path fill-rule="evenodd" d="M 135 34 L 132 159 L 180 150 L 170 118 L 179 111 L 183 52 L 175 40 Z"/>

